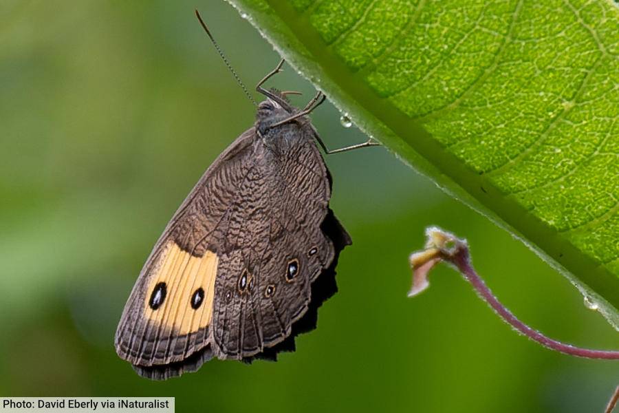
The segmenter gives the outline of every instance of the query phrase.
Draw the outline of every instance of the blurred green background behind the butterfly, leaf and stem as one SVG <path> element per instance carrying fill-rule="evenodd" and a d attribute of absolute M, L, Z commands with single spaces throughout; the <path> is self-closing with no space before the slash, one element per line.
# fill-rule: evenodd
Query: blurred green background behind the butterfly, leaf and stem
<path fill-rule="evenodd" d="M 124 301 L 166 222 L 254 121 L 197 7 L 254 85 L 279 60 L 224 1 L 0 3 L 0 395 L 175 396 L 177 411 L 597 412 L 616 363 L 518 336 L 442 266 L 407 299 L 407 257 L 431 224 L 468 238 L 521 319 L 581 346 L 617 335 L 521 242 L 382 148 L 333 155 L 332 208 L 353 237 L 340 292 L 277 363 L 210 361 L 138 377 L 113 350 Z M 314 93 L 290 67 L 270 85 Z M 329 103 L 329 147 L 365 140 Z"/>

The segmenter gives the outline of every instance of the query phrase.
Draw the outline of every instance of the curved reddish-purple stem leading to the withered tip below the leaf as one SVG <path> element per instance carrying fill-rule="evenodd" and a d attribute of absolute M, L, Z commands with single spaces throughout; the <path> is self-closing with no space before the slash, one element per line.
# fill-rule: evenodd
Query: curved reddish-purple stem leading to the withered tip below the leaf
<path fill-rule="evenodd" d="M 492 291 L 486 283 L 484 282 L 479 275 L 473 269 L 473 266 L 470 264 L 470 260 L 468 257 L 468 251 L 466 249 L 460 249 L 457 253 L 455 253 L 451 257 L 447 257 L 447 260 L 452 262 L 459 271 L 464 275 L 464 278 L 470 282 L 470 284 L 475 288 L 479 296 L 486 301 L 494 309 L 499 317 L 503 320 L 507 321 L 510 326 L 521 332 L 526 337 L 529 337 L 533 341 L 540 343 L 542 346 L 550 348 L 552 350 L 556 350 L 558 352 L 562 352 L 565 354 L 569 354 L 576 357 L 586 357 L 587 359 L 606 359 L 606 360 L 618 360 L 619 359 L 619 351 L 613 350 L 590 350 L 588 348 L 579 348 L 570 346 L 569 344 L 561 343 L 561 341 L 556 341 L 546 337 L 541 332 L 533 330 L 522 321 L 516 318 L 512 314 L 510 310 L 508 310 L 503 304 L 499 302 L 497 297 L 492 294 Z M 619 388 L 618 388 L 619 390 Z M 619 394 L 616 394 L 619 397 Z M 616 403 L 616 398 L 614 400 Z"/>

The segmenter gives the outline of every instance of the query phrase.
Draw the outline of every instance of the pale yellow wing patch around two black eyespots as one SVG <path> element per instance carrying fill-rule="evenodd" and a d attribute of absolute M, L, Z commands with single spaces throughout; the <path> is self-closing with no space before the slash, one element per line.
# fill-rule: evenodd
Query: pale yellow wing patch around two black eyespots
<path fill-rule="evenodd" d="M 211 251 L 206 250 L 202 257 L 194 257 L 169 241 L 154 266 L 155 274 L 144 301 L 144 317 L 155 325 L 171 328 L 177 335 L 208 326 L 213 317 L 218 262 L 219 257 Z M 151 300 L 158 286 L 162 285 L 164 290 L 159 292 L 162 302 L 153 309 Z"/>

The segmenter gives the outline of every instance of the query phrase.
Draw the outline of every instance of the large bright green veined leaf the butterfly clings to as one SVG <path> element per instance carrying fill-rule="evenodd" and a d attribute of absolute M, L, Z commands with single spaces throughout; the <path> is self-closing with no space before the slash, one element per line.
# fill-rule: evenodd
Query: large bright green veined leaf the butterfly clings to
<path fill-rule="evenodd" d="M 615 3 L 230 1 L 360 129 L 619 326 Z"/>

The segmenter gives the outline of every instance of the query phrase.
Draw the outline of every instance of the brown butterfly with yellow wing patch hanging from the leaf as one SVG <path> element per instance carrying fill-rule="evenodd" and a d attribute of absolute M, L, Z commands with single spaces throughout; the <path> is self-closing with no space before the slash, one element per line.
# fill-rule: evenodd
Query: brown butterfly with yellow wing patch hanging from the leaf
<path fill-rule="evenodd" d="M 262 87 L 282 65 L 256 87 L 266 96 L 256 123 L 197 182 L 131 291 L 116 352 L 145 377 L 195 371 L 212 357 L 275 359 L 315 328 L 336 291 L 351 240 L 329 209 L 332 180 L 316 142 L 325 153 L 376 144 L 328 151 L 307 118 L 321 92 L 299 110 L 287 101 L 293 92 Z"/>

